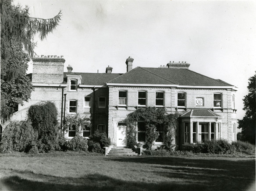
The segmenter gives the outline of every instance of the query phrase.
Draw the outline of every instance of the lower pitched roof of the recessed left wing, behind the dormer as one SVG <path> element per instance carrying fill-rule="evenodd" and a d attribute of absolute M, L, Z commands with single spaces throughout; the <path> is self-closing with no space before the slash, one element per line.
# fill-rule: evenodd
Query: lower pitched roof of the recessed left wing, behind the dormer
<path fill-rule="evenodd" d="M 67 72 L 64 72 L 64 81 L 67 81 Z M 81 75 L 81 85 L 105 85 L 107 81 L 110 81 L 122 74 L 113 73 L 81 73 L 75 72 L 68 75 Z"/>

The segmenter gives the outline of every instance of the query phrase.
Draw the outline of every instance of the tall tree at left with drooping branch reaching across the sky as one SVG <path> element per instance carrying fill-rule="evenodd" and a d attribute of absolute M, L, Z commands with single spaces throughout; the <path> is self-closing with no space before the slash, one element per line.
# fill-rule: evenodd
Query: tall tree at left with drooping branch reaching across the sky
<path fill-rule="evenodd" d="M 57 27 L 61 11 L 54 18 L 29 17 L 28 7 L 0 1 L 1 12 L 1 123 L 10 120 L 18 104 L 28 101 L 33 90 L 26 76 L 28 61 L 34 54 L 34 36 L 41 40 Z"/>

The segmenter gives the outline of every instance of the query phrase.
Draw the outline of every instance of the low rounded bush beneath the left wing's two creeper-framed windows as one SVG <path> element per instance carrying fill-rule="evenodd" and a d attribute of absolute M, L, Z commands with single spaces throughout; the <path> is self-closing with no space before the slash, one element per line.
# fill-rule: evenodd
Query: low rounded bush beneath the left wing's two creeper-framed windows
<path fill-rule="evenodd" d="M 70 141 L 65 142 L 65 148 L 69 151 L 87 151 L 87 139 L 82 136 L 75 136 Z"/>

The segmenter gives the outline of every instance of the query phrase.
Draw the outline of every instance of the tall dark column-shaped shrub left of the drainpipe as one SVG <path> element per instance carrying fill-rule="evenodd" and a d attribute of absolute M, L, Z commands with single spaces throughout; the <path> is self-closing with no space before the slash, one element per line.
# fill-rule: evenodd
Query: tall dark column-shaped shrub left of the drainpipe
<path fill-rule="evenodd" d="M 54 151 L 59 147 L 57 134 L 57 108 L 52 102 L 44 102 L 30 106 L 28 119 L 38 132 L 37 147 L 39 152 Z"/>

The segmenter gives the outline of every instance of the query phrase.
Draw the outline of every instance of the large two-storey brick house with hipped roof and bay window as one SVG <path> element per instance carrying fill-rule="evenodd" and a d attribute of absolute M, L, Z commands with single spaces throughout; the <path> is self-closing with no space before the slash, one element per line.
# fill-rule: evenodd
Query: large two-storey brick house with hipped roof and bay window
<path fill-rule="evenodd" d="M 236 110 L 234 85 L 198 74 L 188 69 L 186 62 L 170 62 L 161 67 L 136 67 L 132 58 L 126 60 L 127 72 L 73 72 L 64 58 L 34 57 L 32 79 L 35 91 L 24 106 L 19 106 L 13 119 L 24 119 L 29 106 L 42 101 L 55 103 L 61 117 L 79 113 L 92 118 L 92 129 L 84 128 L 88 137 L 97 129 L 107 133 L 116 146 L 126 145 L 127 127 L 123 120 L 138 107 L 160 107 L 167 113 L 179 112 L 181 123 L 177 131 L 179 146 L 207 139 L 236 141 Z M 125 65 L 124 65 L 125 67 Z M 61 106 L 62 99 L 66 102 Z M 63 116 L 63 114 L 62 114 Z M 137 125 L 140 142 L 145 141 L 143 121 Z M 164 127 L 155 145 L 164 143 Z M 71 139 L 75 131 L 65 132 Z"/>

